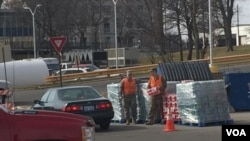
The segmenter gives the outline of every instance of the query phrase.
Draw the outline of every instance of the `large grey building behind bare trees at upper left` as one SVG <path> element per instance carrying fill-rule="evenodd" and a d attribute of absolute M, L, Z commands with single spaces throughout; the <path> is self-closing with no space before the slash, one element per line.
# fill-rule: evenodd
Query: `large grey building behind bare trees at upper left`
<path fill-rule="evenodd" d="M 15 1 L 15 0 L 14 0 Z M 105 0 L 103 0 L 105 1 Z M 4 1 L 6 2 L 6 1 Z M 10 45 L 13 58 L 32 58 L 33 57 L 33 27 L 32 27 L 32 15 L 29 10 L 19 8 L 11 8 L 5 3 L 2 3 L 0 10 L 0 38 L 1 41 Z M 84 2 L 83 2 L 84 3 Z M 143 8 L 140 2 L 131 2 L 134 7 Z M 27 4 L 26 4 L 27 5 Z M 43 5 L 43 4 L 42 4 Z M 30 5 L 31 9 L 34 6 Z M 108 0 L 101 6 L 101 12 L 104 13 L 98 24 L 94 24 L 90 19 L 83 19 L 82 23 L 72 24 L 70 26 L 59 28 L 62 26 L 58 23 L 52 23 L 52 27 L 48 21 L 43 20 L 42 16 L 46 13 L 41 6 L 36 12 L 36 51 L 37 57 L 54 57 L 57 56 L 53 46 L 51 45 L 49 38 L 52 36 L 64 35 L 67 37 L 67 42 L 63 47 L 62 52 L 64 54 L 77 54 L 84 56 L 89 50 L 91 51 L 104 51 L 115 47 L 115 31 L 114 31 L 114 4 L 112 0 Z M 45 7 L 45 5 L 44 5 Z M 144 30 L 137 25 L 137 21 L 132 19 L 132 16 L 127 14 L 127 18 L 124 18 L 124 12 L 121 10 L 121 3 L 117 4 L 117 41 L 118 48 L 136 47 L 140 48 L 144 43 L 142 40 L 145 38 Z M 82 13 L 82 11 L 80 11 Z M 72 11 L 72 13 L 74 13 Z M 99 13 L 97 13 L 99 14 Z M 131 13 L 130 13 L 131 14 Z M 63 15 L 63 13 L 59 14 Z M 76 15 L 76 14 L 75 14 Z M 48 16 L 46 16 L 47 18 Z M 56 16 L 55 16 L 56 17 Z M 59 18 L 59 17 L 58 17 Z M 62 18 L 60 17 L 60 20 Z M 60 22 L 60 20 L 54 19 L 54 21 Z M 98 20 L 98 19 L 96 19 Z M 88 22 L 86 22 L 88 21 Z M 58 24 L 58 25 L 56 25 Z M 46 25 L 46 26 L 45 26 Z M 65 24 L 66 25 L 66 24 Z M 79 29 L 79 26 L 81 28 Z M 53 32 L 62 31 L 62 33 L 55 34 Z M 53 32 L 52 32 L 53 31 Z M 146 42 L 145 42 L 146 44 Z M 63 57 L 64 59 L 68 57 Z M 83 57 L 84 58 L 84 57 Z M 69 60 L 65 60 L 69 61 Z"/>

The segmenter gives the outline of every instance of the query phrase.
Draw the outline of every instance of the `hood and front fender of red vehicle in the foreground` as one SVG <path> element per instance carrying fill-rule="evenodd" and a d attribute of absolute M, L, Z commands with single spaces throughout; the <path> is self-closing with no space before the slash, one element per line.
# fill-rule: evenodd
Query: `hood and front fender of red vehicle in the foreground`
<path fill-rule="evenodd" d="M 42 111 L 9 110 L 0 105 L 1 141 L 94 141 L 91 117 Z"/>

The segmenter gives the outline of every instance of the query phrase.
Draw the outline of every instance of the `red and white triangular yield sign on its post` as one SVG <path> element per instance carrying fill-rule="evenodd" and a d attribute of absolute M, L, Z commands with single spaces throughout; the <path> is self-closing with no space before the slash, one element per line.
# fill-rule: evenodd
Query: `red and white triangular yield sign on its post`
<path fill-rule="evenodd" d="M 58 53 L 58 57 L 59 57 L 59 65 L 60 65 L 60 84 L 62 87 L 62 71 L 61 71 L 61 51 L 62 48 L 66 42 L 67 38 L 64 36 L 61 37 L 50 37 L 50 42 L 53 45 L 53 47 L 55 48 L 56 52 Z"/>

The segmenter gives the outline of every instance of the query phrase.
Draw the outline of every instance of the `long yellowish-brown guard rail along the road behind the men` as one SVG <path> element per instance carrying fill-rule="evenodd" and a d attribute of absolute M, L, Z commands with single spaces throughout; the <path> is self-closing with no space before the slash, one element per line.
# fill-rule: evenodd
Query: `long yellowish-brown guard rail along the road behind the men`
<path fill-rule="evenodd" d="M 210 63 L 210 59 L 200 59 L 200 60 L 194 60 L 194 61 L 207 61 L 208 63 Z M 250 61 L 250 54 L 213 58 L 213 63 L 215 65 L 245 63 L 249 61 Z M 93 72 L 87 72 L 87 73 L 67 74 L 67 75 L 62 75 L 61 77 L 62 77 L 62 81 L 76 80 L 76 79 L 88 79 L 88 78 L 93 78 L 93 79 L 94 78 L 109 78 L 109 77 L 116 77 L 119 74 L 123 74 L 126 72 L 126 70 L 131 70 L 134 74 L 145 74 L 145 73 L 148 73 L 152 68 L 157 67 L 157 65 L 158 64 L 151 64 L 151 65 L 126 67 L 126 68 L 119 68 L 119 69 L 106 69 L 106 70 L 93 71 Z M 59 83 L 60 80 L 61 80 L 60 76 L 45 77 L 46 84 L 56 84 L 56 83 Z"/>

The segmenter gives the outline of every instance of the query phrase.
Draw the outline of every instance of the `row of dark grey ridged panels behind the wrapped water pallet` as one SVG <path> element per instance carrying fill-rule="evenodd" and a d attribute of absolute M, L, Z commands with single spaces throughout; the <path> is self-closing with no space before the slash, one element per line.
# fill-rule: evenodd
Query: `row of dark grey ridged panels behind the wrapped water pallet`
<path fill-rule="evenodd" d="M 203 81 L 213 79 L 206 61 L 160 63 L 158 72 L 167 81 Z"/>

